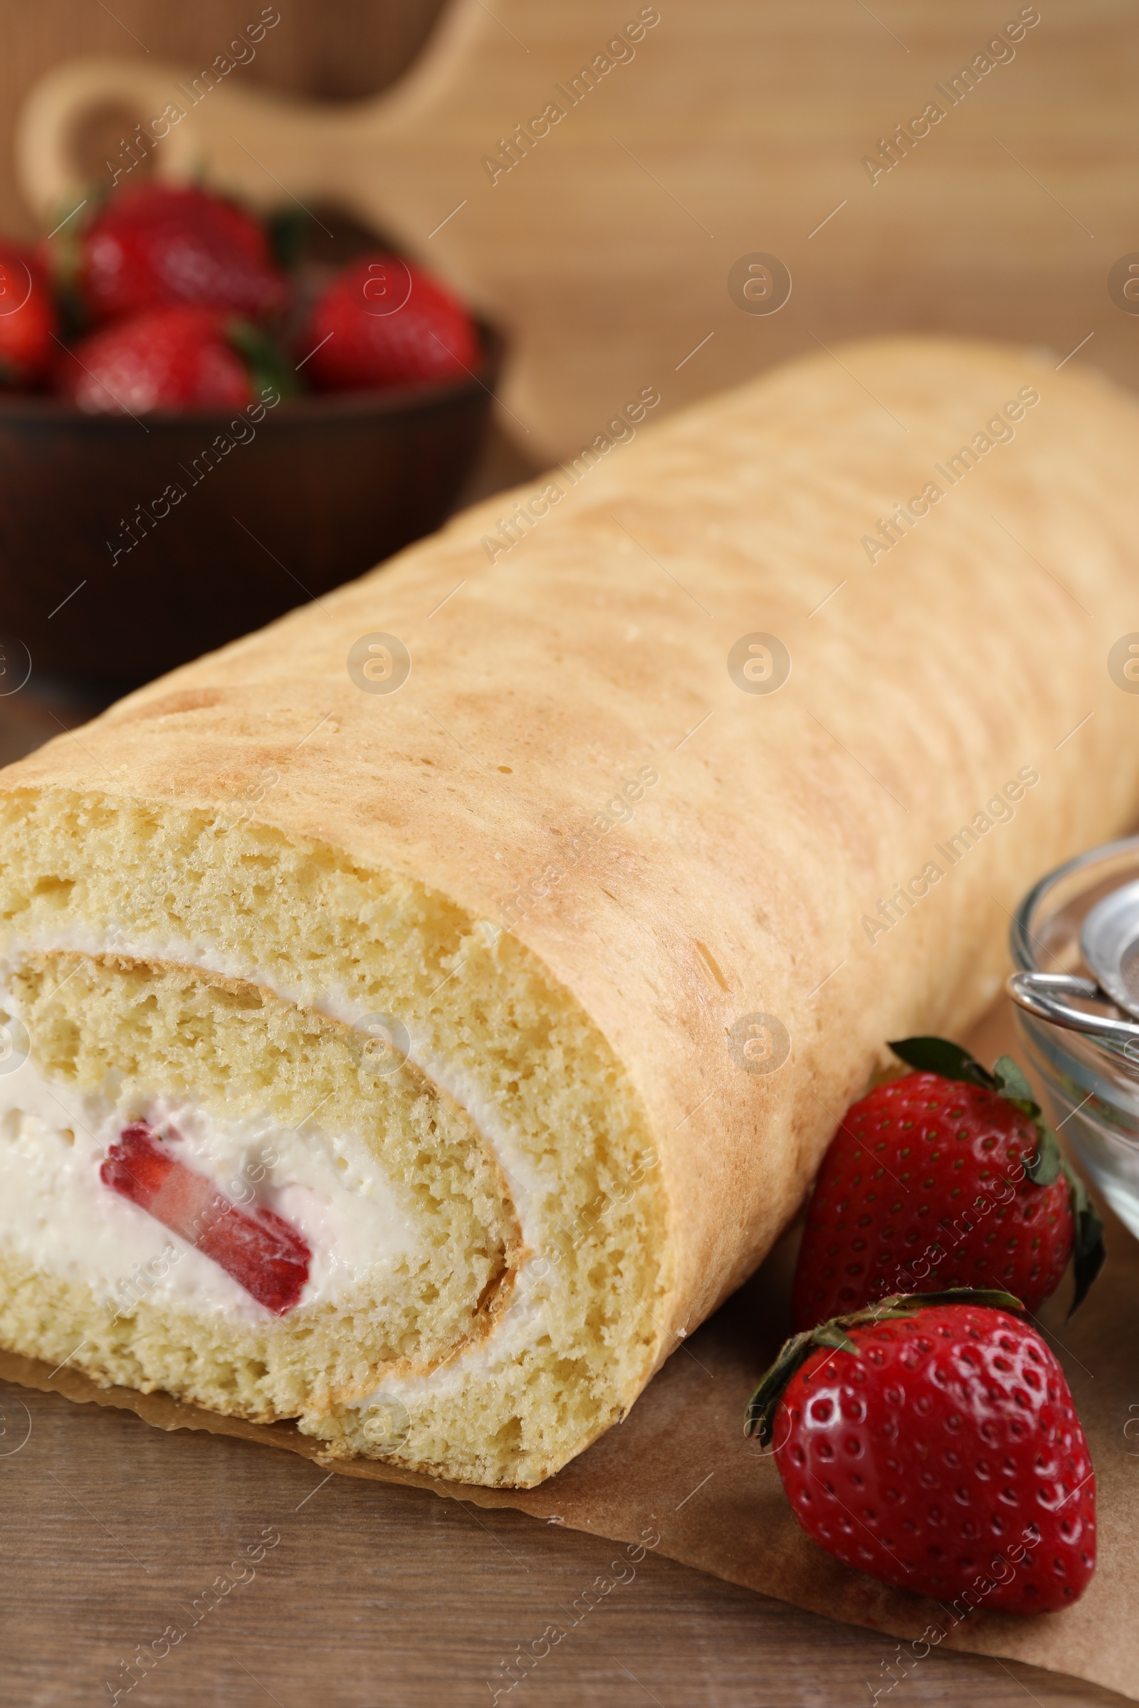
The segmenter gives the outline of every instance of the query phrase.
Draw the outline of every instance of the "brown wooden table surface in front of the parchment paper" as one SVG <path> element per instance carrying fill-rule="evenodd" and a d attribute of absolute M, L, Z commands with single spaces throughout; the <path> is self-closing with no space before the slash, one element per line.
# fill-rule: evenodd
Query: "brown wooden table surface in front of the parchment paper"
<path fill-rule="evenodd" d="M 463 502 L 526 473 L 492 437 Z M 0 699 L 0 762 L 96 711 L 32 673 Z M 289 1454 L 164 1435 L 128 1413 L 5 1383 L 0 1503 L 5 1708 L 89 1708 L 114 1689 L 131 1708 L 488 1708 L 516 1645 L 564 1619 L 613 1558 L 601 1537 L 523 1513 L 326 1476 Z M 280 1539 L 263 1559 L 229 1571 L 266 1532 Z M 244 1582 L 191 1624 L 222 1571 Z M 172 1623 L 186 1635 L 169 1653 L 145 1676 L 128 1670 Z M 647 1554 L 499 1703 L 856 1708 L 888 1686 L 893 1653 L 886 1636 Z M 891 1708 L 1122 1701 L 937 1650 L 890 1694 Z"/>

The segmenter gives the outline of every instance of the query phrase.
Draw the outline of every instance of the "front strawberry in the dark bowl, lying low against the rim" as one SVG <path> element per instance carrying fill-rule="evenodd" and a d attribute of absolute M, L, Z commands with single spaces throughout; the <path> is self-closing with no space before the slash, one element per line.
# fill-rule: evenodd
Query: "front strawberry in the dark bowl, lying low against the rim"
<path fill-rule="evenodd" d="M 101 326 L 68 350 L 56 389 L 89 415 L 142 415 L 251 403 L 256 381 L 295 389 L 272 340 L 229 309 L 149 309 Z"/>

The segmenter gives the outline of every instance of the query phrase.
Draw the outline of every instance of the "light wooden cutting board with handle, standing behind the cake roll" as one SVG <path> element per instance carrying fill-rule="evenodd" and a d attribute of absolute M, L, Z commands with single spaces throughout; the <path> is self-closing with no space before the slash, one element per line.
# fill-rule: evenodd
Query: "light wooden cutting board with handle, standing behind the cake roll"
<path fill-rule="evenodd" d="M 534 461 L 645 386 L 671 410 L 861 333 L 1081 347 L 1139 383 L 1125 261 L 1108 290 L 1139 251 L 1129 0 L 454 0 L 394 89 L 342 106 L 254 91 L 241 51 L 212 84 L 50 73 L 19 126 L 31 203 L 55 224 L 87 193 L 101 109 L 167 114 L 137 145 L 162 176 L 338 203 L 502 323 Z"/>

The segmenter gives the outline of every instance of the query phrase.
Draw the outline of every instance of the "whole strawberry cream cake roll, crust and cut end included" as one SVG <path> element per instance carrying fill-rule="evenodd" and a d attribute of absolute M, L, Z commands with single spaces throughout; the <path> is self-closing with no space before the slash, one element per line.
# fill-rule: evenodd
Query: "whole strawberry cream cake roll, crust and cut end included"
<path fill-rule="evenodd" d="M 1136 813 L 1105 381 L 886 340 L 599 441 L 0 774 L 2 1346 L 533 1484 Z"/>

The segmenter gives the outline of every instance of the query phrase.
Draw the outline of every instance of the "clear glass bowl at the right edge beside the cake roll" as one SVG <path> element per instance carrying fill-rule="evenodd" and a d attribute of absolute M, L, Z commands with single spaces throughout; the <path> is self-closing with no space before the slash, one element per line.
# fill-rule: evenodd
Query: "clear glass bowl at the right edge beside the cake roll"
<path fill-rule="evenodd" d="M 1096 989 L 1079 943 L 1096 902 L 1136 880 L 1139 837 L 1091 849 L 1042 878 L 1013 921 L 1009 994 L 1057 1129 L 1139 1238 L 1139 1023 Z"/>

